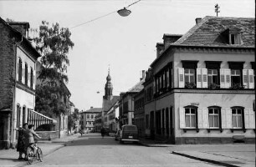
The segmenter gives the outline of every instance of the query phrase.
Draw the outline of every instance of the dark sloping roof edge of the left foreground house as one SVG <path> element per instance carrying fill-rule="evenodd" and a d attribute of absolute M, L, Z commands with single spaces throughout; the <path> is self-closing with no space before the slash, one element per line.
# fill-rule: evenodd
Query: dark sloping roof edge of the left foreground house
<path fill-rule="evenodd" d="M 12 26 L 10 26 L 10 25 L 9 25 L 6 21 L 4 21 L 3 18 L 1 18 L 1 17 L 0 17 L 0 22 L 2 22 L 2 23 L 3 23 L 4 25 L 6 25 L 9 29 L 11 29 L 15 35 L 18 35 L 20 38 L 23 39 L 23 43 L 24 43 L 25 45 L 27 45 L 29 48 L 31 48 L 31 50 L 33 51 L 33 56 L 35 56 L 36 58 L 41 57 L 41 54 L 38 53 L 38 51 L 37 51 L 35 48 L 33 48 L 33 45 L 30 43 L 30 41 L 28 41 L 27 38 L 25 38 L 25 37 L 23 36 L 22 33 L 18 32 L 15 28 L 13 28 Z M 18 23 L 18 22 L 16 22 L 16 23 Z"/>

